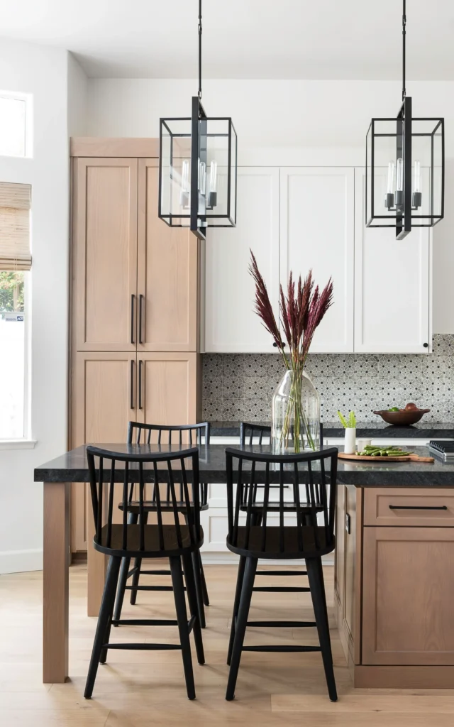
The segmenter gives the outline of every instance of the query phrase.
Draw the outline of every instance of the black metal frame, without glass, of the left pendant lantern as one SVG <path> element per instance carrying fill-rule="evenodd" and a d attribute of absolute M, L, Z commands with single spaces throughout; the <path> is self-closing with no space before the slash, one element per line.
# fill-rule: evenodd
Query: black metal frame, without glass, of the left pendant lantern
<path fill-rule="evenodd" d="M 235 126 L 230 117 L 208 117 L 202 105 L 202 0 L 198 1 L 198 95 L 192 97 L 190 117 L 171 117 L 160 119 L 159 134 L 159 190 L 158 190 L 158 216 L 171 227 L 189 227 L 200 239 L 206 239 L 206 228 L 235 227 L 237 206 L 237 172 L 238 172 L 238 140 Z M 172 122 L 177 125 L 186 122 L 188 132 L 176 133 L 171 130 Z M 223 132 L 210 130 L 210 126 L 224 126 Z M 174 181 L 177 174 L 174 172 L 174 142 L 190 138 L 190 190 L 187 191 L 187 214 L 173 214 L 171 204 L 169 212 L 163 212 L 163 136 L 170 140 L 169 154 L 169 182 Z M 205 174 L 208 163 L 209 140 L 224 137 L 227 140 L 227 188 L 224 200 L 225 212 L 213 212 L 218 197 L 216 190 L 210 190 L 208 203 L 206 193 L 200 192 L 200 164 L 204 165 Z M 234 177 L 234 179 L 232 179 Z M 205 182 L 206 184 L 206 182 Z M 232 189 L 232 185 L 235 187 Z M 171 197 L 171 192 L 170 192 Z"/>

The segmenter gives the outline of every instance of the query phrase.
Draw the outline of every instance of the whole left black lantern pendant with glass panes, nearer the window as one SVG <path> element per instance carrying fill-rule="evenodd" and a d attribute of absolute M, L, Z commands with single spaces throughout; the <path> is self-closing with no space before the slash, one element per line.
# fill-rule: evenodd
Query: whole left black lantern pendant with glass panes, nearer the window
<path fill-rule="evenodd" d="M 202 102 L 202 0 L 198 5 L 198 95 L 183 119 L 161 119 L 158 215 L 205 239 L 207 227 L 235 227 L 237 135 L 230 118 L 210 118 Z"/>

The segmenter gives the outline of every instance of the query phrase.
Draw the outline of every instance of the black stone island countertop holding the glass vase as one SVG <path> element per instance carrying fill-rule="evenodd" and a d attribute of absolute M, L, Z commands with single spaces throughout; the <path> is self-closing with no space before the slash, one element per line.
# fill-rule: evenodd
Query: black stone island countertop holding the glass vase
<path fill-rule="evenodd" d="M 150 451 L 169 451 L 169 445 L 141 445 L 139 449 L 134 444 L 102 444 L 104 449 L 116 452 L 129 452 L 131 454 Z M 178 451 L 177 445 L 171 445 L 171 451 Z M 268 446 L 244 447 L 245 451 L 269 452 Z M 341 448 L 339 448 L 341 449 Z M 428 455 L 426 447 L 415 447 L 413 451 L 423 456 Z M 236 460 L 234 459 L 234 466 Z M 118 462 L 121 467 L 121 462 Z M 256 474 L 262 471 L 262 465 L 257 465 Z M 123 481 L 121 469 L 117 472 L 118 481 Z M 163 470 L 163 475 L 165 475 Z M 189 473 L 188 473 L 189 474 Z M 175 473 L 177 475 L 177 473 Z M 105 468 L 105 480 L 108 481 L 110 472 Z M 275 474 L 278 478 L 278 473 Z M 284 473 L 285 480 L 291 482 L 292 471 Z M 145 481 L 152 481 L 153 470 L 150 465 L 144 465 Z M 85 447 L 81 446 L 73 451 L 52 459 L 35 470 L 35 481 L 46 483 L 58 482 L 87 482 L 89 479 Z M 131 471 L 131 479 L 134 472 Z M 177 476 L 176 476 L 177 479 Z M 207 483 L 224 483 L 226 481 L 225 446 L 211 444 L 200 447 L 200 481 Z M 454 463 L 442 462 L 435 459 L 433 463 L 423 462 L 347 462 L 339 459 L 338 483 L 355 485 L 357 487 L 453 487 Z"/>

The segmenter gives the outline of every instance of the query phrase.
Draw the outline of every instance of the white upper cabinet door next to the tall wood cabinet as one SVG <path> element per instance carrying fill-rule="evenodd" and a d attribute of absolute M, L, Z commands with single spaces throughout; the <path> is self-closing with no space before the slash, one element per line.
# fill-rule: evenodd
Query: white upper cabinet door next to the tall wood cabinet
<path fill-rule="evenodd" d="M 205 260 L 205 350 L 275 353 L 254 313 L 256 256 L 277 318 L 279 294 L 279 169 L 238 168 L 236 228 L 208 228 Z"/>

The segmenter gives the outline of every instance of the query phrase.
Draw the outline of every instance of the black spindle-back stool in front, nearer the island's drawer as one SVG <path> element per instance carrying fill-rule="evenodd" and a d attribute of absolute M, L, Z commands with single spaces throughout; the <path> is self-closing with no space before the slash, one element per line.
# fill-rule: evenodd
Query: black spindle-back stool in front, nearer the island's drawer
<path fill-rule="evenodd" d="M 227 547 L 232 553 L 240 555 L 232 616 L 234 635 L 227 683 L 228 700 L 235 696 L 242 651 L 321 651 L 328 693 L 331 701 L 336 702 L 322 555 L 332 553 L 335 547 L 337 454 L 338 450 L 335 447 L 313 453 L 283 455 L 226 449 L 229 523 Z M 325 473 L 327 459 L 329 502 Z M 294 507 L 291 510 L 285 508 L 284 503 L 284 489 L 287 482 L 291 483 L 293 489 Z M 264 484 L 262 516 L 260 522 L 254 524 L 254 489 L 259 483 Z M 273 504 L 269 497 L 271 486 L 275 483 L 279 488 L 277 504 Z M 234 484 L 236 484 L 235 502 Z M 304 491 L 305 502 L 301 502 L 300 488 Z M 246 519 L 243 521 L 245 502 Z M 317 507 L 318 502 L 321 503 L 321 510 Z M 306 561 L 315 622 L 248 622 L 259 558 Z M 312 627 L 315 625 L 320 646 L 243 646 L 247 626 Z"/>

